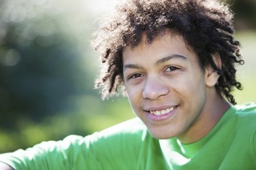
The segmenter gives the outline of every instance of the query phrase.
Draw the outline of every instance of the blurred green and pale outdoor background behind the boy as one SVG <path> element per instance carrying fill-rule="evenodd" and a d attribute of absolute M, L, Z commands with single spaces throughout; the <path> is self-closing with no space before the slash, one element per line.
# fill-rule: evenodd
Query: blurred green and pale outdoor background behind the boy
<path fill-rule="evenodd" d="M 117 1 L 117 0 L 115 0 Z M 114 0 L 0 1 L 0 153 L 70 134 L 87 135 L 134 117 L 124 97 L 94 90 L 98 16 Z M 238 103 L 256 103 L 256 1 L 230 0 L 245 64 Z"/>

